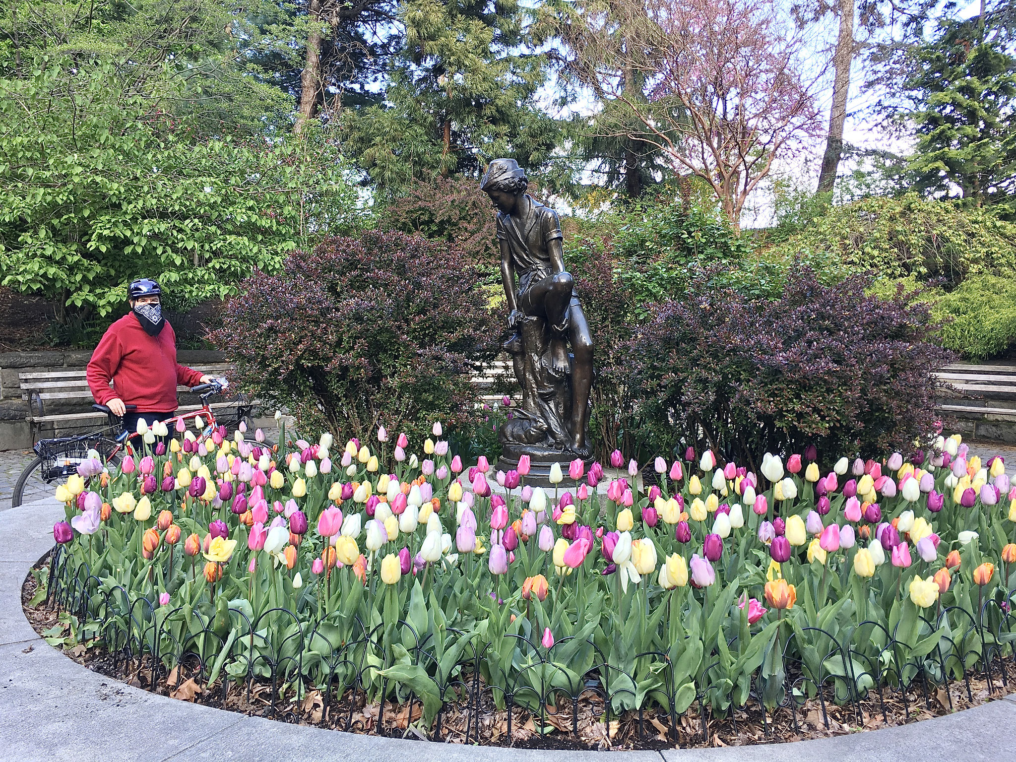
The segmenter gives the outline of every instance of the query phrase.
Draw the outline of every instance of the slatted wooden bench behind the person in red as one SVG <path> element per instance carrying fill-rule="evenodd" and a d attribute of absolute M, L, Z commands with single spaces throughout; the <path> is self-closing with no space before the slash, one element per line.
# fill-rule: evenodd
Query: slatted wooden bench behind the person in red
<path fill-rule="evenodd" d="M 194 368 L 202 374 L 211 376 L 225 376 L 233 366 L 227 363 L 214 365 L 201 365 Z M 90 405 L 94 400 L 88 382 L 85 379 L 83 370 L 57 370 L 45 373 L 19 373 L 18 382 L 21 387 L 21 399 L 28 403 L 28 415 L 25 421 L 31 429 L 31 440 L 37 441 L 40 427 L 52 425 L 54 427 L 67 426 L 72 424 L 87 425 L 89 423 L 100 424 L 106 421 L 105 412 L 97 410 L 79 410 L 75 412 L 48 414 L 46 408 L 51 408 L 59 404 L 81 404 Z M 190 390 L 188 386 L 177 386 L 177 393 L 186 393 Z M 212 402 L 211 407 L 229 408 L 237 407 L 240 402 L 237 400 Z M 249 404 L 249 403 L 248 403 Z M 181 405 L 181 412 L 196 410 L 199 404 Z"/>

